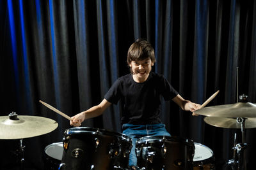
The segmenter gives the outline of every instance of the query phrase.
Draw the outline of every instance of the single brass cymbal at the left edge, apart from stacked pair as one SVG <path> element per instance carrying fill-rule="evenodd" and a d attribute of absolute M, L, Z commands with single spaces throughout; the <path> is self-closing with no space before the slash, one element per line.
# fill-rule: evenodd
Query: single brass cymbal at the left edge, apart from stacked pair
<path fill-rule="evenodd" d="M 11 120 L 8 116 L 0 117 L 0 139 L 24 139 L 40 136 L 54 131 L 58 123 L 50 118 L 36 116 L 18 116 Z"/>

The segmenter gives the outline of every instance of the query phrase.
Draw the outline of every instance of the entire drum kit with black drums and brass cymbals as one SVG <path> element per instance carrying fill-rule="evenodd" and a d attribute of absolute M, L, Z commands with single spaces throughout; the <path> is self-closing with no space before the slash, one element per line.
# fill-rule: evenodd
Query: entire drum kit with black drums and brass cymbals
<path fill-rule="evenodd" d="M 241 129 L 242 143 L 234 144 L 234 159 L 228 160 L 227 164 L 232 169 L 246 169 L 243 157 L 247 147 L 244 129 L 256 127 L 256 104 L 248 103 L 246 96 L 241 96 L 239 103 L 205 107 L 195 113 L 205 116 L 204 121 L 214 127 Z M 58 123 L 50 118 L 10 113 L 9 116 L 0 117 L 0 127 L 0 139 L 20 139 L 22 169 L 22 139 L 54 131 Z M 92 127 L 72 127 L 64 132 L 62 142 L 45 147 L 45 169 L 129 169 L 131 148 L 132 139 L 125 134 Z M 145 136 L 138 139 L 136 157 L 141 170 L 215 169 L 211 148 L 175 136 Z"/>

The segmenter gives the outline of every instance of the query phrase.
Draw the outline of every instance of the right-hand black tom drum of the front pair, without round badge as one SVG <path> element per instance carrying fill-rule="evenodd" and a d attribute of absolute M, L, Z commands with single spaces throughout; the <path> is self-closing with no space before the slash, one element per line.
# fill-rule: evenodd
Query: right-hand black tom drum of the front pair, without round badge
<path fill-rule="evenodd" d="M 171 136 L 145 136 L 136 141 L 137 166 L 141 169 L 193 169 L 192 140 Z"/>

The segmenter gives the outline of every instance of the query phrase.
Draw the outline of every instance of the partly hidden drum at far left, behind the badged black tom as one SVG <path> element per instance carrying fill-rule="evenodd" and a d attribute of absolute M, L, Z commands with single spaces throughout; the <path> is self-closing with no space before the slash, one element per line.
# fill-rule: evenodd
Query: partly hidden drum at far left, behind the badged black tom
<path fill-rule="evenodd" d="M 44 169 L 57 170 L 63 154 L 63 143 L 52 143 L 44 149 Z"/>

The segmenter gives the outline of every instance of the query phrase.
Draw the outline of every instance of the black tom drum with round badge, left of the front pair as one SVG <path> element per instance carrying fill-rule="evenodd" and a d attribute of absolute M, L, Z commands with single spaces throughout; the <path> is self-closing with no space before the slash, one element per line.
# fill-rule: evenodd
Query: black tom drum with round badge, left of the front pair
<path fill-rule="evenodd" d="M 63 146 L 60 169 L 125 169 L 132 139 L 104 129 L 74 127 L 65 131 Z"/>

